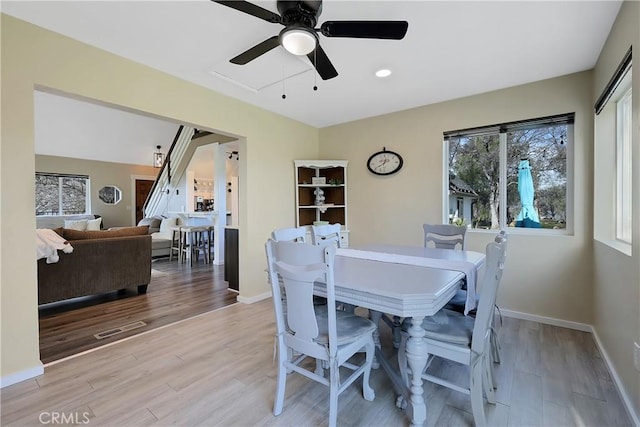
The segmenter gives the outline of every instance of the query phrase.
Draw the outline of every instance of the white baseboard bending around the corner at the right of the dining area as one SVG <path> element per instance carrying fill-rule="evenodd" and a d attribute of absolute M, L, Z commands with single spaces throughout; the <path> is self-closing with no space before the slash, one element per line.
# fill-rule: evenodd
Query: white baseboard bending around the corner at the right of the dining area
<path fill-rule="evenodd" d="M 604 346 L 602 345 L 602 341 L 600 341 L 600 337 L 598 336 L 598 333 L 595 331 L 595 329 L 593 329 L 593 326 L 587 325 L 586 323 L 571 322 L 568 320 L 554 319 L 552 317 L 545 317 L 545 316 L 536 316 L 533 314 L 521 313 L 518 311 L 501 309 L 500 312 L 505 317 L 531 320 L 534 322 L 544 323 L 546 325 L 560 326 L 562 328 L 575 329 L 583 332 L 590 332 L 591 335 L 593 335 L 593 339 L 596 342 L 596 346 L 598 347 L 598 350 L 600 351 L 602 358 L 604 359 L 605 365 L 607 365 L 607 369 L 609 369 L 609 373 L 613 378 L 613 382 L 616 385 L 616 389 L 618 390 L 618 395 L 620 396 L 620 398 L 622 399 L 622 402 L 624 403 L 624 407 L 627 410 L 627 414 L 629 414 L 629 417 L 631 418 L 631 420 L 636 426 L 640 426 L 640 417 L 638 416 L 638 414 L 636 413 L 633 407 L 633 402 L 629 398 L 629 395 L 626 393 L 626 390 L 623 387 L 622 381 L 620 380 L 620 376 L 618 375 L 618 372 L 616 372 L 616 370 L 613 368 L 613 364 L 611 363 L 609 354 L 604 349 Z"/>

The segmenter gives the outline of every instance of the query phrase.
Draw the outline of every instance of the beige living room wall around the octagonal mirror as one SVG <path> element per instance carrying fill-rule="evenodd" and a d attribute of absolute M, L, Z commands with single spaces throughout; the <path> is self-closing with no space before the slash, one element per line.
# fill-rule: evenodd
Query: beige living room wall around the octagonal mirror
<path fill-rule="evenodd" d="M 36 172 L 89 175 L 91 213 L 102 216 L 104 228 L 134 225 L 132 212 L 135 205 L 132 204 L 131 177 L 155 177 L 158 174 L 158 169 L 152 166 L 43 155 L 36 155 L 35 168 Z M 107 205 L 98 198 L 98 191 L 105 185 L 115 185 L 122 191 L 120 203 Z"/>

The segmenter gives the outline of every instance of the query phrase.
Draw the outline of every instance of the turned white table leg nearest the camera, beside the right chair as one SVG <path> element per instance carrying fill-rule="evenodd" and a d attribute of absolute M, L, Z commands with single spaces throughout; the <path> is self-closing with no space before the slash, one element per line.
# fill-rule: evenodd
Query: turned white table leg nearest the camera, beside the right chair
<path fill-rule="evenodd" d="M 422 329 L 424 317 L 412 317 L 407 339 L 407 363 L 411 369 L 410 416 L 412 426 L 421 426 L 427 419 L 427 406 L 424 402 L 422 388 L 422 371 L 427 366 L 427 344 Z"/>

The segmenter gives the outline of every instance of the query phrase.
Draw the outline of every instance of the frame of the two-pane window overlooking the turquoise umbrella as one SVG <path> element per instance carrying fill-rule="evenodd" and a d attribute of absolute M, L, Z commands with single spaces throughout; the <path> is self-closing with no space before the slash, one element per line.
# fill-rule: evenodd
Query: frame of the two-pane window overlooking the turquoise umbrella
<path fill-rule="evenodd" d="M 449 138 L 455 134 L 468 134 L 473 133 L 497 133 L 499 137 L 499 205 L 507 206 L 507 133 L 517 129 L 523 128 L 527 125 L 535 125 L 536 123 L 548 123 L 549 126 L 553 125 L 558 119 L 557 124 L 566 124 L 567 126 L 567 148 L 566 148 L 566 224 L 563 229 L 545 229 L 545 228 L 525 228 L 525 227 L 508 227 L 507 224 L 507 212 L 506 209 L 500 209 L 499 223 L 500 230 L 508 231 L 512 234 L 523 235 L 574 235 L 574 147 L 575 147 L 575 113 L 565 113 L 555 116 L 534 118 L 528 120 L 520 120 L 517 122 L 510 122 L 498 125 L 482 126 L 473 129 L 463 129 L 458 131 L 445 132 L 443 135 L 443 193 L 442 193 L 442 222 L 449 223 Z M 482 229 L 482 228 L 468 228 L 467 232 L 473 233 L 495 233 L 495 229 Z"/>

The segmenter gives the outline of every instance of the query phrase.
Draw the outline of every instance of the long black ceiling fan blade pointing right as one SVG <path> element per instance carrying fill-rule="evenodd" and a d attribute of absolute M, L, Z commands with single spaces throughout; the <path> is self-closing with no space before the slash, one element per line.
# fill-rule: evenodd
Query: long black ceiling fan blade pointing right
<path fill-rule="evenodd" d="M 326 37 L 401 40 L 407 28 L 407 21 L 326 21 L 320 31 Z"/>

